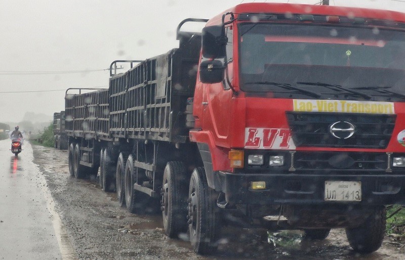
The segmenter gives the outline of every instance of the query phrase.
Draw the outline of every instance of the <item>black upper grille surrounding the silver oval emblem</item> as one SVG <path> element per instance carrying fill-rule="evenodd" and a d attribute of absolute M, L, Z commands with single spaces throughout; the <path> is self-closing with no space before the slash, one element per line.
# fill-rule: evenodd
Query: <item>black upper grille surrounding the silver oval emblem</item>
<path fill-rule="evenodd" d="M 297 147 L 377 148 L 387 147 L 396 115 L 286 112 L 292 138 Z M 349 122 L 354 134 L 340 139 L 330 133 L 336 122 Z"/>

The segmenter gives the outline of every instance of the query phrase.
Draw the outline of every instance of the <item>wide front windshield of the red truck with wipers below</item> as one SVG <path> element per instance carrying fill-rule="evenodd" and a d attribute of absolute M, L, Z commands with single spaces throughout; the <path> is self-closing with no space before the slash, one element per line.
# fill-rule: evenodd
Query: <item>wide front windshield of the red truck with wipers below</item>
<path fill-rule="evenodd" d="M 405 31 L 244 23 L 239 25 L 239 46 L 240 86 L 244 91 L 290 92 L 285 93 L 290 96 L 291 92 L 298 93 L 263 84 L 277 82 L 322 95 L 344 92 L 343 88 L 326 88 L 325 84 L 363 88 L 376 95 L 382 93 L 376 88 L 403 92 Z"/>

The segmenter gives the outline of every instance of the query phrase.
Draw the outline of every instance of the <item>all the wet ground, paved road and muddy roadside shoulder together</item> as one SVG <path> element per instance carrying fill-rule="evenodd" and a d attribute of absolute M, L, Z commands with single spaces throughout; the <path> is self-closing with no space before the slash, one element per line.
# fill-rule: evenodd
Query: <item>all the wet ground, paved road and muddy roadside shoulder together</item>
<path fill-rule="evenodd" d="M 324 241 L 300 232 L 226 227 L 219 249 L 195 254 L 187 236 L 170 239 L 160 214 L 130 214 L 115 193 L 95 180 L 69 176 L 67 152 L 24 145 L 18 159 L 0 141 L 0 258 L 5 259 L 403 259 L 404 248 L 389 238 L 369 255 L 355 254 L 344 230 Z M 33 163 L 34 162 L 34 163 Z"/>

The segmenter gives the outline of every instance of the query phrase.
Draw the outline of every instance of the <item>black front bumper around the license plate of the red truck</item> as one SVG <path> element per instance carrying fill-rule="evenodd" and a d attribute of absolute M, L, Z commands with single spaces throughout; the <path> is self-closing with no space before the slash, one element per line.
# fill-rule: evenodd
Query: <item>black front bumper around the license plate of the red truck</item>
<path fill-rule="evenodd" d="M 215 173 L 217 191 L 229 204 L 405 204 L 405 175 Z M 251 190 L 265 181 L 265 190 Z M 360 181 L 361 201 L 325 201 L 325 181 Z"/>

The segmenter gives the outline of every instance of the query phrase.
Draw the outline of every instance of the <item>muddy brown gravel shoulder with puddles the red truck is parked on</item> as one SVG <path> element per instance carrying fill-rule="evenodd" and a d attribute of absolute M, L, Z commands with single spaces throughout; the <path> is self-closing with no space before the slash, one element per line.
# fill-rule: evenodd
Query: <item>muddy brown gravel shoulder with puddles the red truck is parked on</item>
<path fill-rule="evenodd" d="M 63 226 L 78 258 L 90 259 L 403 259 L 405 248 L 386 237 L 372 254 L 355 254 L 344 230 L 332 230 L 324 241 L 307 241 L 299 232 L 273 234 L 266 230 L 227 227 L 212 255 L 195 254 L 187 236 L 170 239 L 161 214 L 130 214 L 119 207 L 115 193 L 103 192 L 96 180 L 69 176 L 67 151 L 33 145 L 34 162 L 44 174 Z"/>

